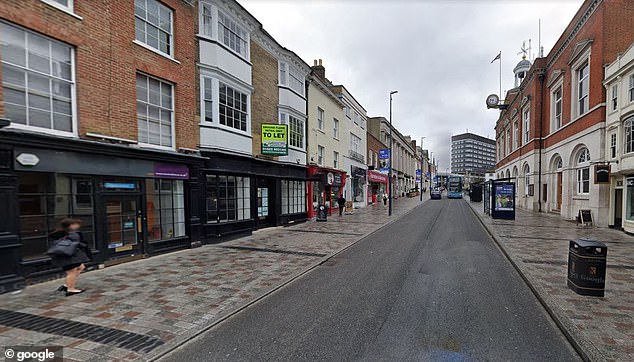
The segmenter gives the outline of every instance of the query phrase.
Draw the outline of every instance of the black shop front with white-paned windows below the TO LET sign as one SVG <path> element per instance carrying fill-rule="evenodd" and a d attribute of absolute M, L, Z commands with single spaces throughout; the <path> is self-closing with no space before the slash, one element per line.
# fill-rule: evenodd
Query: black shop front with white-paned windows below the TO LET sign
<path fill-rule="evenodd" d="M 306 167 L 221 152 L 203 156 L 205 242 L 306 220 Z"/>

